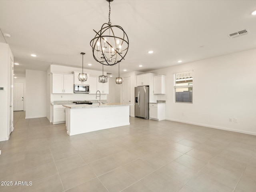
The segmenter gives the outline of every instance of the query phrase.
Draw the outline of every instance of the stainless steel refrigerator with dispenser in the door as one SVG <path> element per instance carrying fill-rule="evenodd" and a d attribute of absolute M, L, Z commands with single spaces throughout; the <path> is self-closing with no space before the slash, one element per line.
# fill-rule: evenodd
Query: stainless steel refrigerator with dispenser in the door
<path fill-rule="evenodd" d="M 149 119 L 149 87 L 135 87 L 135 117 Z"/>

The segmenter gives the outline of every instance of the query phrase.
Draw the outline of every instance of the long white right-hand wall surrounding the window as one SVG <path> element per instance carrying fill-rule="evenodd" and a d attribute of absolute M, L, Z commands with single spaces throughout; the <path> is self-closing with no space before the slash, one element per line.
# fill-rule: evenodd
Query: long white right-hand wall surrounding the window
<path fill-rule="evenodd" d="M 187 70 L 194 70 L 193 104 L 175 103 L 173 74 Z M 256 49 L 150 72 L 166 75 L 166 95 L 158 96 L 166 119 L 256 135 Z"/>

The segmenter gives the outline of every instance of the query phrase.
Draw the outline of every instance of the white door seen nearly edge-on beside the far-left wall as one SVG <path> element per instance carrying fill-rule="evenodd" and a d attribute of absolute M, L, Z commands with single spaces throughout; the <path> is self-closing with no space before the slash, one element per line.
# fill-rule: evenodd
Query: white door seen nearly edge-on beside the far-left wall
<path fill-rule="evenodd" d="M 9 135 L 13 131 L 13 60 L 10 57 L 10 72 L 9 72 Z"/>

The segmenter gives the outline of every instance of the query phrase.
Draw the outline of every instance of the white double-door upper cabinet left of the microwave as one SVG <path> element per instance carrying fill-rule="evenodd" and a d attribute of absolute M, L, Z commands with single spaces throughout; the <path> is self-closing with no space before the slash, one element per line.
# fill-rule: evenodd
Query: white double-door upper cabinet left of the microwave
<path fill-rule="evenodd" d="M 52 73 L 52 93 L 74 93 L 74 75 Z"/>

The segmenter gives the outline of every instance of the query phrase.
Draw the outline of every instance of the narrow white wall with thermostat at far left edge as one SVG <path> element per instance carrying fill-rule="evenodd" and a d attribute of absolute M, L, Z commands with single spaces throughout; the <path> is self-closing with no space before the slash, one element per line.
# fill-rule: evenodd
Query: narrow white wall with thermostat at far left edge
<path fill-rule="evenodd" d="M 13 55 L 8 44 L 0 43 L 0 141 L 9 139 L 9 75 L 10 60 L 13 61 Z"/>

